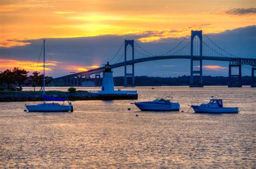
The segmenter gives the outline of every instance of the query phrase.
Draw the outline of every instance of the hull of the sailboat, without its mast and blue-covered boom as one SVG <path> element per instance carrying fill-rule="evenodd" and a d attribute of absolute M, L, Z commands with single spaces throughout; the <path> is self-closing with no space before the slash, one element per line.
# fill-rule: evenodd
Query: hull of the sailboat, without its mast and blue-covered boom
<path fill-rule="evenodd" d="M 47 104 L 38 104 L 38 105 L 26 105 L 26 109 L 29 112 L 72 112 L 72 105 L 47 105 Z"/>

